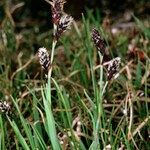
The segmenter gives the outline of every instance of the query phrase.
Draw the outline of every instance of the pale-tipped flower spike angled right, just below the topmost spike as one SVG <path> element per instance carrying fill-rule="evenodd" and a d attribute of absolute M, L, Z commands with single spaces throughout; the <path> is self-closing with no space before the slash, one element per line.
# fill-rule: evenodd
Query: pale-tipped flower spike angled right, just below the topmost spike
<path fill-rule="evenodd" d="M 60 21 L 57 25 L 56 33 L 54 35 L 56 40 L 58 40 L 60 38 L 60 36 L 63 32 L 65 32 L 67 29 L 70 29 L 72 22 L 73 22 L 73 18 L 67 14 L 63 15 L 60 18 Z"/>

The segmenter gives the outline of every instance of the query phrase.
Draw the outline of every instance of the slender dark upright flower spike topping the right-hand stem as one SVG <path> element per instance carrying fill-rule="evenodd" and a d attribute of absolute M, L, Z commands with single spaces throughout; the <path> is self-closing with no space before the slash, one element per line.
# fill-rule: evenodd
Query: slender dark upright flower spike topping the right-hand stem
<path fill-rule="evenodd" d="M 101 54 L 103 56 L 106 55 L 106 43 L 100 36 L 98 30 L 95 28 L 92 29 L 92 39 L 96 48 L 101 52 Z"/>

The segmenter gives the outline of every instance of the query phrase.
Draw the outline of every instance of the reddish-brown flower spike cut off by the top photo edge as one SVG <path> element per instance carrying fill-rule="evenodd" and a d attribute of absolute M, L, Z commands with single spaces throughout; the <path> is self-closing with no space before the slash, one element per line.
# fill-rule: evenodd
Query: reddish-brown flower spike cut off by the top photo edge
<path fill-rule="evenodd" d="M 52 5 L 52 21 L 55 25 L 59 24 L 59 21 L 63 15 L 63 7 L 65 0 L 53 0 L 51 2 Z"/>

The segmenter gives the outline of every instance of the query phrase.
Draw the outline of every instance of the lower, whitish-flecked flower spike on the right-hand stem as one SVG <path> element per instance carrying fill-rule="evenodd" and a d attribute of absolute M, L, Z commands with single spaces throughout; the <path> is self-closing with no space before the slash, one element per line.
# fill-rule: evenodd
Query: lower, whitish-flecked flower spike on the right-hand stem
<path fill-rule="evenodd" d="M 108 80 L 111 80 L 112 78 L 116 79 L 118 77 L 120 63 L 121 63 L 120 57 L 116 57 L 108 63 L 108 68 L 107 68 Z"/>

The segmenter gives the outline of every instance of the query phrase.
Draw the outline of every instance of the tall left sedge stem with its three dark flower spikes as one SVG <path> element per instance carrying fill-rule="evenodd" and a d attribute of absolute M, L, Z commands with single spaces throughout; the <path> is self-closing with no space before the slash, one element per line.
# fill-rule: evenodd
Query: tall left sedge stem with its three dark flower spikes
<path fill-rule="evenodd" d="M 47 130 L 48 136 L 51 140 L 53 149 L 60 149 L 60 143 L 58 142 L 58 137 L 56 133 L 55 121 L 53 117 L 53 112 L 51 109 L 51 75 L 52 75 L 52 64 L 54 60 L 55 46 L 61 37 L 62 33 L 65 32 L 73 21 L 73 18 L 63 12 L 64 0 L 53 0 L 50 4 L 52 7 L 52 20 L 53 20 L 53 42 L 52 51 L 49 59 L 49 55 L 46 49 L 39 49 L 39 59 L 42 67 L 48 69 L 48 83 L 45 92 L 42 94 L 43 103 L 45 107 L 45 114 L 47 119 Z M 50 67 L 49 67 L 50 66 Z M 55 83 L 55 82 L 54 82 Z"/>

